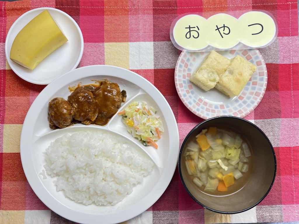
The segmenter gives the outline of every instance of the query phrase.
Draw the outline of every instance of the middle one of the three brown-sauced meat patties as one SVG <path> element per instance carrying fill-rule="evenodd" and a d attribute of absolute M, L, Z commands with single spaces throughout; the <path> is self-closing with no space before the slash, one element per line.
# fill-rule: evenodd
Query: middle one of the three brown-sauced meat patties
<path fill-rule="evenodd" d="M 70 96 L 68 102 L 74 110 L 74 119 L 82 124 L 89 125 L 97 118 L 97 109 L 94 103 L 94 96 L 91 91 L 84 87 L 77 88 Z"/>

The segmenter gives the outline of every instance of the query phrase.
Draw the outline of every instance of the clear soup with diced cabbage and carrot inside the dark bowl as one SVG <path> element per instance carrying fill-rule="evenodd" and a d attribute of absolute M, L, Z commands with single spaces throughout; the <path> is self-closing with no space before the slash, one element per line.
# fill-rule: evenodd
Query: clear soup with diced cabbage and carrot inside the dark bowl
<path fill-rule="evenodd" d="M 249 142 L 227 127 L 208 127 L 186 144 L 188 177 L 205 194 L 225 196 L 244 187 L 253 170 Z"/>

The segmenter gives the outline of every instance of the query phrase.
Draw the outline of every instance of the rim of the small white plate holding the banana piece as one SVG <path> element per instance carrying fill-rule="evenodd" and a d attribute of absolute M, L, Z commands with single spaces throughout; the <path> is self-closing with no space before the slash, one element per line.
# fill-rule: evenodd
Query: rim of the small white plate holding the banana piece
<path fill-rule="evenodd" d="M 74 70 L 75 68 L 77 68 L 77 66 L 79 65 L 80 61 L 81 61 L 81 58 L 83 56 L 83 49 L 84 49 L 84 40 L 83 40 L 83 34 L 82 34 L 82 31 L 79 27 L 79 25 L 77 24 L 77 22 L 70 16 L 68 15 L 67 13 L 59 10 L 59 9 L 56 9 L 56 8 L 52 8 L 52 7 L 40 7 L 40 8 L 36 8 L 36 9 L 32 9 L 32 10 L 29 10 L 27 11 L 26 13 L 22 14 L 18 19 L 16 19 L 16 21 L 11 25 L 11 27 L 9 28 L 8 32 L 7 32 L 7 35 L 6 35 L 6 39 L 5 39 L 5 57 L 6 57 L 6 61 L 8 63 L 8 65 L 10 66 L 10 68 L 13 70 L 14 73 L 16 73 L 21 79 L 24 79 L 25 81 L 27 82 L 30 82 L 30 83 L 33 83 L 33 84 L 38 84 L 38 85 L 48 85 L 50 82 L 43 82 L 43 81 L 35 81 L 35 80 L 32 80 L 32 79 L 28 79 L 26 76 L 23 76 L 21 73 L 19 73 L 19 71 L 17 71 L 14 67 L 14 64 L 15 62 L 12 62 L 10 59 L 9 59 L 9 52 L 8 52 L 8 46 L 7 46 L 7 42 L 8 42 L 8 39 L 10 37 L 10 33 L 12 32 L 12 30 L 14 29 L 14 27 L 16 26 L 16 24 L 22 20 L 22 18 L 24 16 L 26 16 L 27 14 L 30 14 L 32 12 L 35 12 L 35 11 L 38 11 L 38 10 L 54 10 L 54 11 L 57 11 L 58 13 L 61 13 L 63 14 L 64 16 L 66 16 L 74 25 L 75 27 L 77 28 L 78 30 L 78 33 L 79 33 L 79 36 L 80 36 L 80 44 L 81 44 L 81 48 L 80 48 L 80 54 L 79 54 L 79 57 L 77 58 L 77 61 L 75 63 L 75 65 L 71 68 L 71 70 Z M 54 79 L 53 79 L 54 80 Z M 52 80 L 52 81 L 53 81 Z"/>

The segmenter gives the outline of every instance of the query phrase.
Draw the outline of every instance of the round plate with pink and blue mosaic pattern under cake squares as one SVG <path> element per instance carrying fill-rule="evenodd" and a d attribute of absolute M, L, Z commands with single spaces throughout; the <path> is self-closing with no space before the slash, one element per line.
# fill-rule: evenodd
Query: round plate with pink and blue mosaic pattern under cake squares
<path fill-rule="evenodd" d="M 267 68 L 262 55 L 256 49 L 218 51 L 229 59 L 239 54 L 257 66 L 240 95 L 229 98 L 215 88 L 205 92 L 189 80 L 208 53 L 182 51 L 179 56 L 174 80 L 181 101 L 192 113 L 203 119 L 248 115 L 260 103 L 266 91 Z"/>

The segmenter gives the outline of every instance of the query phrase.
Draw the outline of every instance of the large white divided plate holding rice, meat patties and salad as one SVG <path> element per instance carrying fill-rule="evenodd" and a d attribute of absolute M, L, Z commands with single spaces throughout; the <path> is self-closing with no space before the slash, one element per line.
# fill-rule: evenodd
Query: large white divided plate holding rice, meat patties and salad
<path fill-rule="evenodd" d="M 116 82 L 120 89 L 127 92 L 126 102 L 119 111 L 133 101 L 143 100 L 157 108 L 161 115 L 165 133 L 159 139 L 158 150 L 145 147 L 134 139 L 124 127 L 120 116 L 115 114 L 106 126 L 76 124 L 67 128 L 52 130 L 49 128 L 47 114 L 48 102 L 54 97 L 67 99 L 68 87 L 93 83 L 93 80 L 107 78 Z M 83 205 L 57 192 L 53 181 L 47 175 L 43 179 L 39 173 L 44 169 L 44 152 L 51 141 L 65 133 L 80 130 L 104 130 L 123 136 L 142 153 L 146 153 L 155 163 L 155 170 L 124 200 L 113 206 Z M 66 73 L 45 87 L 31 105 L 24 121 L 21 134 L 21 159 L 25 175 L 36 195 L 57 214 L 78 223 L 120 223 L 141 214 L 153 205 L 170 183 L 176 168 L 179 153 L 179 132 L 176 119 L 164 96 L 150 82 L 129 70 L 109 66 L 93 65 L 81 67 Z"/>

